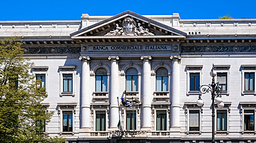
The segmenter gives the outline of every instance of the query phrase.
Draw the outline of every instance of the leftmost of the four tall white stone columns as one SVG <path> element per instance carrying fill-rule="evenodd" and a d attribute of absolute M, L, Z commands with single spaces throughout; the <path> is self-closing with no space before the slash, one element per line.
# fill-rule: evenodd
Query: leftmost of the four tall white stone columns
<path fill-rule="evenodd" d="M 82 61 L 82 80 L 81 80 L 81 90 L 82 90 L 82 129 L 84 131 L 91 131 L 90 128 L 90 65 L 91 62 L 89 56 L 80 56 Z"/>

